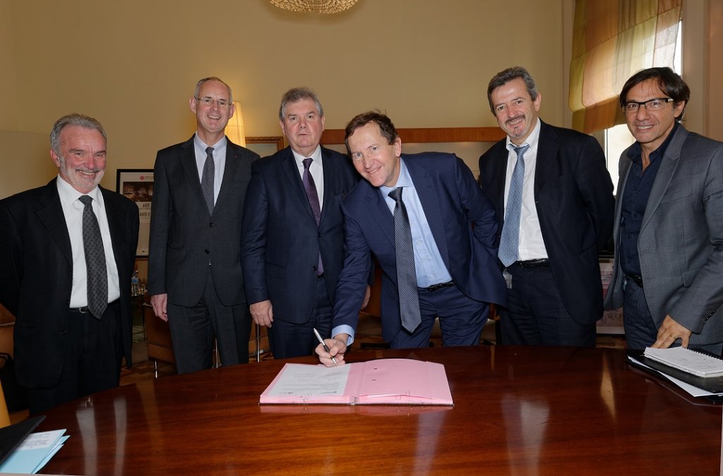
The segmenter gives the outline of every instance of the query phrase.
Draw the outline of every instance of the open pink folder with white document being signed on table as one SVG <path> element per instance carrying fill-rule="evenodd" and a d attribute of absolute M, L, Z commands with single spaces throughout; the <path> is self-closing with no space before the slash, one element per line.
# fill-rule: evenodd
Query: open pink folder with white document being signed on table
<path fill-rule="evenodd" d="M 380 359 L 340 367 L 286 364 L 262 404 L 453 405 L 445 366 Z"/>

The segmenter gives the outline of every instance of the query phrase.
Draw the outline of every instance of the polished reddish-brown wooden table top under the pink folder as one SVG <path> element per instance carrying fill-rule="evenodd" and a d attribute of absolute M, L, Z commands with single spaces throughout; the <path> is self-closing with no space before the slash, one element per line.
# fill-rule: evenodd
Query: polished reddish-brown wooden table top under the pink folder
<path fill-rule="evenodd" d="M 43 472 L 74 475 L 718 475 L 722 407 L 620 349 L 354 352 L 445 365 L 454 407 L 259 405 L 284 361 L 162 377 L 72 401 Z M 312 357 L 292 362 L 312 363 Z M 287 361 L 288 362 L 288 361 Z"/>

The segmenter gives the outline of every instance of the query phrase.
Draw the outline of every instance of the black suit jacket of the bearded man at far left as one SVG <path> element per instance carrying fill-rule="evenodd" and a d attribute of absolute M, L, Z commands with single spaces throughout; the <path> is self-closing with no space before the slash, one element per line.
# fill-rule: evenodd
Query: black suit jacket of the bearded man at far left
<path fill-rule="evenodd" d="M 138 207 L 102 187 L 121 283 L 121 335 L 131 365 L 130 281 L 138 242 Z M 61 376 L 72 289 L 72 251 L 56 179 L 0 201 L 0 302 L 15 315 L 17 381 L 55 386 Z"/>

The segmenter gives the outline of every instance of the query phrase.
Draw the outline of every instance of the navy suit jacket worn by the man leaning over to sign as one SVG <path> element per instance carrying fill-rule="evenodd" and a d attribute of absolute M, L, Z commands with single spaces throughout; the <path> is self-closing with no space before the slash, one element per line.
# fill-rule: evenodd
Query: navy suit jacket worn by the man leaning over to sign
<path fill-rule="evenodd" d="M 495 210 L 469 168 L 449 153 L 402 154 L 424 215 L 455 284 L 472 299 L 506 305 L 497 268 Z M 345 258 L 332 328 L 356 328 L 369 273 L 369 253 L 382 269 L 382 337 L 401 329 L 397 296 L 394 218 L 377 187 L 362 180 L 342 203 Z"/>

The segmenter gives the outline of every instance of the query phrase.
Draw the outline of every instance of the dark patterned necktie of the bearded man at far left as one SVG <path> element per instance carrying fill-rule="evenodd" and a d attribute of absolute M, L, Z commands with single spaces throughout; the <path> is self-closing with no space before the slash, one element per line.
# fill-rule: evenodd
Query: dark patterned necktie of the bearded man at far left
<path fill-rule="evenodd" d="M 88 310 L 100 319 L 108 307 L 108 271 L 106 250 L 100 237 L 98 218 L 93 213 L 93 198 L 82 195 L 78 198 L 83 208 L 83 250 L 87 270 Z"/>

